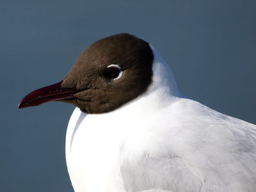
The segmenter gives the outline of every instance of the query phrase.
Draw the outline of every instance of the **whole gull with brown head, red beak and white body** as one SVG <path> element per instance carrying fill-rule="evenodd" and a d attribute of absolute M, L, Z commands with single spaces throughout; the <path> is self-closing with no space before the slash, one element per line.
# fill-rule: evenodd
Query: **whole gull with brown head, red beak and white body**
<path fill-rule="evenodd" d="M 18 108 L 51 101 L 76 106 L 65 143 L 76 192 L 256 191 L 256 125 L 182 95 L 137 36 L 97 40 Z"/>

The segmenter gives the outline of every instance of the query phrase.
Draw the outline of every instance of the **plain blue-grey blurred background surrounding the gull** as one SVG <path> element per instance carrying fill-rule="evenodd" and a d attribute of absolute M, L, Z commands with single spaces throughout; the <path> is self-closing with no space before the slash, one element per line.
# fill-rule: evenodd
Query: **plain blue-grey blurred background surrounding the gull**
<path fill-rule="evenodd" d="M 74 106 L 17 104 L 116 33 L 154 45 L 184 95 L 256 124 L 256 1 L 6 0 L 0 14 L 0 192 L 73 191 L 65 132 Z"/>

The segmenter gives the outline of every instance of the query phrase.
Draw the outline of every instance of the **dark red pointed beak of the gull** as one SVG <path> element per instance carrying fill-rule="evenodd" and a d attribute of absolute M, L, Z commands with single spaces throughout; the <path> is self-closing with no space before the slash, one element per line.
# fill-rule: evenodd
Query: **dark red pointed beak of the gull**
<path fill-rule="evenodd" d="M 62 82 L 45 86 L 29 93 L 20 101 L 18 109 L 39 106 L 50 101 L 75 98 L 74 94 L 81 92 L 77 88 L 61 88 Z"/>

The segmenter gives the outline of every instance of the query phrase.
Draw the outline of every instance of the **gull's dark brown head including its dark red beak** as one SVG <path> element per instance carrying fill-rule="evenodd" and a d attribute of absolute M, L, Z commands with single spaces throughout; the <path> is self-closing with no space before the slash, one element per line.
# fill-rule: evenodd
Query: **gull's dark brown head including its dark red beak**
<path fill-rule="evenodd" d="M 18 108 L 60 100 L 85 113 L 107 113 L 145 93 L 154 56 L 147 42 L 122 33 L 84 50 L 60 83 L 29 93 Z"/>

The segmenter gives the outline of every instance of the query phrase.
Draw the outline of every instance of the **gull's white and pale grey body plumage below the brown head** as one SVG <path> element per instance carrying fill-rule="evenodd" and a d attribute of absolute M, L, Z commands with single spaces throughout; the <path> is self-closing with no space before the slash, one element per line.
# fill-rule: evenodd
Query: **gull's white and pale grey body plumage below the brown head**
<path fill-rule="evenodd" d="M 184 97 L 150 47 L 147 93 L 109 113 L 74 110 L 66 157 L 75 191 L 256 191 L 256 126 Z"/>

